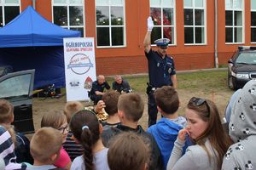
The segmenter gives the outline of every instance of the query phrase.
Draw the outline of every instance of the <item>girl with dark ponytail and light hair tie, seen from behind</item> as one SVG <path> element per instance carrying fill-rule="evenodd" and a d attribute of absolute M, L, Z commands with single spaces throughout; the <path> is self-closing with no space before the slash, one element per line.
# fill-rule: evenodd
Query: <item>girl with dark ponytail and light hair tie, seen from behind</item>
<path fill-rule="evenodd" d="M 102 124 L 92 111 L 79 111 L 70 122 L 73 139 L 82 144 L 83 156 L 76 157 L 72 170 L 108 170 L 108 149 L 102 144 Z"/>

